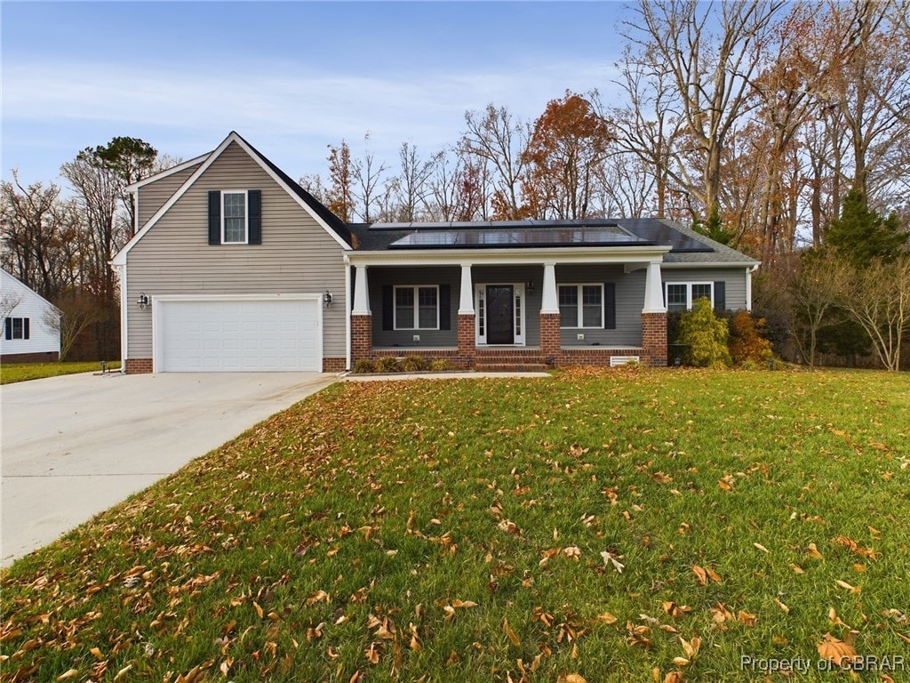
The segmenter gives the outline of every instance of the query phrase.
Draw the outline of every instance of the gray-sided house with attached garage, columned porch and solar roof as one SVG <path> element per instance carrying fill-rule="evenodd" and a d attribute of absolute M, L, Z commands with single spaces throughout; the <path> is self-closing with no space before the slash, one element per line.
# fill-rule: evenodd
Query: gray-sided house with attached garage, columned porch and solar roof
<path fill-rule="evenodd" d="M 657 219 L 346 223 L 232 132 L 129 190 L 125 372 L 667 362 L 667 311 L 748 309 L 758 262 Z"/>

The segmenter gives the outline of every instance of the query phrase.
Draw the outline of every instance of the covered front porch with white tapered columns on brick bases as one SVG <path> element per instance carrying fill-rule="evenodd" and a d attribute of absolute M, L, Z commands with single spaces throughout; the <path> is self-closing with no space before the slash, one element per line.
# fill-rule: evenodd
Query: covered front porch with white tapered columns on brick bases
<path fill-rule="evenodd" d="M 666 248 L 516 251 L 350 254 L 351 363 L 417 354 L 478 370 L 666 364 Z"/>

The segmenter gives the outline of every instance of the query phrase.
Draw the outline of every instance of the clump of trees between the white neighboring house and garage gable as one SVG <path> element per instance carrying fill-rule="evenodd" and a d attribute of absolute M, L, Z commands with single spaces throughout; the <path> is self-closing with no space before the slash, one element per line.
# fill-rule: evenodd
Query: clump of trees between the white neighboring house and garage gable
<path fill-rule="evenodd" d="M 97 359 L 120 353 L 119 291 L 110 260 L 134 233 L 126 186 L 173 158 L 137 138 L 85 148 L 60 168 L 71 193 L 55 182 L 0 185 L 0 262 L 5 270 L 63 311 L 61 358 L 90 332 Z M 49 322 L 49 321 L 48 321 Z"/>

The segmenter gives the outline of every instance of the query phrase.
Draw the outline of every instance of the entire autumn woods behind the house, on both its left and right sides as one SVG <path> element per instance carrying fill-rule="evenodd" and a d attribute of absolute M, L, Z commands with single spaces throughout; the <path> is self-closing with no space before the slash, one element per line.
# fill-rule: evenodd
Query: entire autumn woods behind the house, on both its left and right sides
<path fill-rule="evenodd" d="M 756 306 L 806 362 L 878 352 L 883 325 L 893 346 L 910 312 L 870 323 L 874 333 L 850 312 L 856 291 L 816 301 L 835 290 L 806 274 L 847 268 L 865 282 L 870 269 L 897 268 L 887 279 L 901 281 L 908 10 L 908 0 L 641 0 L 618 27 L 622 58 L 602 88 L 619 97 L 566 91 L 533 121 L 490 103 L 465 113 L 450 146 L 404 141 L 395 160 L 378 158 L 369 135 L 356 149 L 342 140 L 325 175 L 300 183 L 350 221 L 673 219 L 762 261 Z M 61 169 L 72 199 L 53 183 L 3 184 L 5 267 L 51 301 L 95 301 L 106 357 L 118 320 L 107 262 L 133 229 L 124 188 L 168 161 L 114 138 Z M 838 233 L 843 225 L 853 227 Z M 890 246 L 875 241 L 883 230 Z"/>

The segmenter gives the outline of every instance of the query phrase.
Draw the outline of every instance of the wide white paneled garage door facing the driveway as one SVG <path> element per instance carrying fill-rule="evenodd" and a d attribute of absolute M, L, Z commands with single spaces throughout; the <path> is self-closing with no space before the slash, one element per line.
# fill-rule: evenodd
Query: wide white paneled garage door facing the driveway
<path fill-rule="evenodd" d="M 318 297 L 157 301 L 159 372 L 322 370 Z"/>

